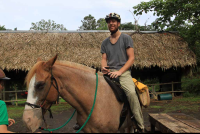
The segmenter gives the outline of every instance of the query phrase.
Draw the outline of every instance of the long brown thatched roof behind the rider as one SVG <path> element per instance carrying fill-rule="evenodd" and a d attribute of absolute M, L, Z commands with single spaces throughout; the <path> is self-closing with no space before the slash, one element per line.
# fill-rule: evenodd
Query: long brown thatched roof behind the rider
<path fill-rule="evenodd" d="M 163 69 L 196 65 L 196 56 L 188 44 L 174 33 L 133 33 L 136 68 L 154 66 Z M 37 58 L 48 60 L 59 53 L 58 60 L 100 67 L 102 41 L 109 32 L 0 32 L 0 67 L 29 70 Z"/>

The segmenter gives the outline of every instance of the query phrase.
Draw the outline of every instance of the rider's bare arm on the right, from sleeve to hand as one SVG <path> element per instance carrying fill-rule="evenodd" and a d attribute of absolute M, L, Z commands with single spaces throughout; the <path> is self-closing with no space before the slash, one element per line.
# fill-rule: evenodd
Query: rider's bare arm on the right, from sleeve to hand
<path fill-rule="evenodd" d="M 118 76 L 121 76 L 124 72 L 126 72 L 134 63 L 134 49 L 133 48 L 127 48 L 126 49 L 127 55 L 128 55 L 128 61 L 126 64 L 116 72 L 109 73 L 111 78 L 117 78 Z"/>

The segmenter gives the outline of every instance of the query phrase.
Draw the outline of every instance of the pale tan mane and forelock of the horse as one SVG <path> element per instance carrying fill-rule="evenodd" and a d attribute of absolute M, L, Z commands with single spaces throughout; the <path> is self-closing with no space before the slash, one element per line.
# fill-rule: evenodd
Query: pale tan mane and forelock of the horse
<path fill-rule="evenodd" d="M 32 77 L 34 76 L 34 74 L 36 73 L 36 69 L 41 68 L 41 65 L 44 63 L 44 61 L 39 61 L 37 62 L 32 68 L 31 70 L 28 72 L 26 79 L 25 79 L 25 83 L 27 85 L 27 87 L 29 87 L 29 83 L 32 79 Z M 74 69 L 78 69 L 81 71 L 85 71 L 91 74 L 95 74 L 95 69 L 79 64 L 79 63 L 74 63 L 74 62 L 70 62 L 70 61 L 56 61 L 54 66 L 66 66 L 66 67 L 70 67 L 70 68 L 74 68 Z M 102 75 L 102 73 L 98 73 L 99 75 Z"/>

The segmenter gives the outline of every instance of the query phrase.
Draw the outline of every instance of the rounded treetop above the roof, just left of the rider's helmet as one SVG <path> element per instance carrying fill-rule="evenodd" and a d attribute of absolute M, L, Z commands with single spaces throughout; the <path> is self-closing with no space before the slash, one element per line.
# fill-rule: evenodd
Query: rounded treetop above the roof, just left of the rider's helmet
<path fill-rule="evenodd" d="M 82 26 L 79 27 L 81 30 L 96 30 L 96 19 L 91 14 L 85 16 L 81 22 Z"/>

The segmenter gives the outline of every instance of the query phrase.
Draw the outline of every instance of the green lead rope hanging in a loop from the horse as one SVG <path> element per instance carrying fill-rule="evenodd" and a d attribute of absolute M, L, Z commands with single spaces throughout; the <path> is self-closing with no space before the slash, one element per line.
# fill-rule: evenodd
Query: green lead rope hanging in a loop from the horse
<path fill-rule="evenodd" d="M 92 112 L 93 112 L 94 106 L 95 106 L 95 102 L 96 102 L 97 89 L 98 89 L 98 74 L 96 73 L 96 90 L 95 90 L 95 96 L 94 96 L 93 106 L 92 106 L 92 109 L 90 111 L 90 114 L 89 114 L 87 120 L 85 121 L 85 123 L 83 124 L 83 126 L 76 133 L 79 133 L 85 127 L 85 125 L 87 124 L 87 122 L 89 121 L 89 119 L 90 119 L 90 117 L 92 115 Z M 74 110 L 74 113 L 72 114 L 72 116 L 61 127 L 58 127 L 58 128 L 55 128 L 55 129 L 45 129 L 43 127 L 39 127 L 39 129 L 44 130 L 44 131 L 49 131 L 50 133 L 53 133 L 53 131 L 59 130 L 59 129 L 63 128 L 65 125 L 67 125 L 69 123 L 69 121 L 73 118 L 73 116 L 74 116 L 75 113 L 76 113 L 76 110 Z"/>

